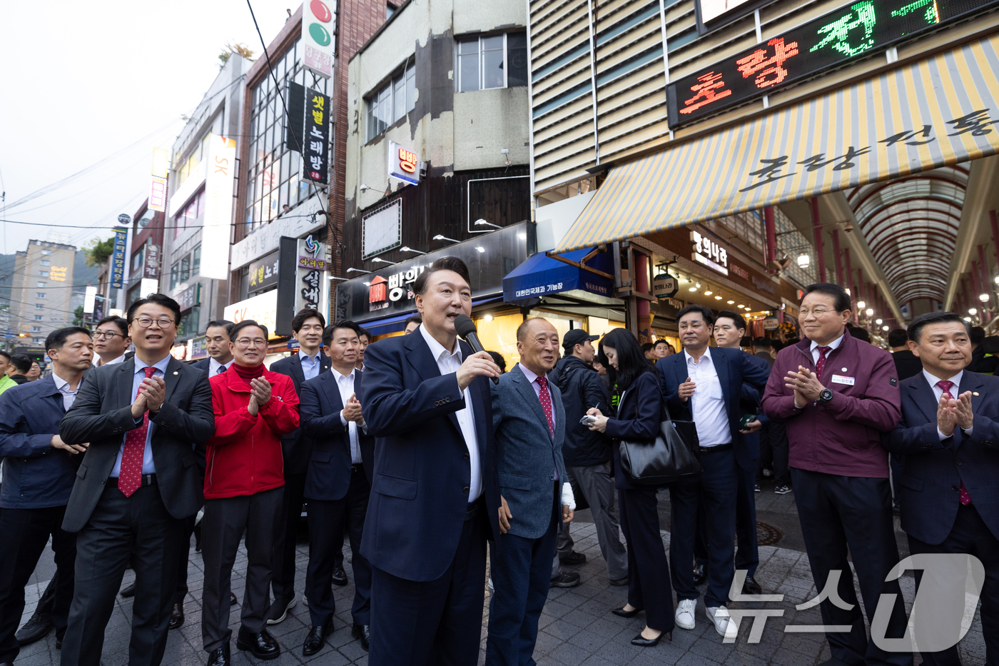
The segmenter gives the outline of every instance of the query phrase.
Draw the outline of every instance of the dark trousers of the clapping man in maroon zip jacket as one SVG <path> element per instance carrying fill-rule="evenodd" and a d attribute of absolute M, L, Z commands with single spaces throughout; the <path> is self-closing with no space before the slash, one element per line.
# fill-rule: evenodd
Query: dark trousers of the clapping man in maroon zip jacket
<path fill-rule="evenodd" d="M 852 606 L 844 610 L 828 599 L 819 605 L 823 624 L 851 627 L 849 632 L 826 632 L 832 656 L 846 664 L 912 664 L 911 653 L 885 652 L 868 640 L 846 558 L 849 553 L 853 560 L 868 621 L 873 621 L 882 594 L 897 595 L 885 633 L 886 638 L 900 638 L 908 622 L 902 591 L 897 580 L 885 582 L 899 559 L 888 479 L 792 467 L 791 480 L 815 589 L 825 589 L 830 572 L 839 570 L 839 598 Z"/>

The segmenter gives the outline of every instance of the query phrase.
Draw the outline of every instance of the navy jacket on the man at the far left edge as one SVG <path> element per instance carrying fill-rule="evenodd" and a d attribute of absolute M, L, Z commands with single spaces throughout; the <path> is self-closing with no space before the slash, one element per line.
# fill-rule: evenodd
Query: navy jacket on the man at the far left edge
<path fill-rule="evenodd" d="M 82 453 L 51 446 L 66 410 L 51 375 L 12 386 L 0 395 L 0 507 L 39 509 L 69 502 Z"/>

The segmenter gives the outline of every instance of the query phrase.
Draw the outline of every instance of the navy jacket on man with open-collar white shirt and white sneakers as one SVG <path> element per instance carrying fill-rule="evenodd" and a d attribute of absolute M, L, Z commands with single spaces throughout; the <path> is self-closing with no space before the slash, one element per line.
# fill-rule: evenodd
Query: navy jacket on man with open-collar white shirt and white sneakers
<path fill-rule="evenodd" d="M 711 347 L 711 362 L 718 373 L 721 384 L 721 396 L 725 401 L 725 413 L 728 414 L 728 427 L 732 432 L 732 448 L 735 459 L 742 469 L 756 469 L 755 459 L 759 457 L 759 439 L 755 438 L 755 451 L 745 437 L 739 432 L 739 419 L 742 411 L 739 409 L 739 398 L 742 396 L 743 384 L 748 384 L 757 391 L 762 391 L 766 380 L 770 377 L 770 369 L 763 359 L 757 359 L 746 354 L 741 349 L 725 349 Z M 686 354 L 680 352 L 660 358 L 656 364 L 662 379 L 662 396 L 666 401 L 669 413 L 676 419 L 692 419 L 689 401 L 679 398 L 680 384 L 689 376 L 686 367 Z M 696 394 L 695 394 L 696 395 Z"/>

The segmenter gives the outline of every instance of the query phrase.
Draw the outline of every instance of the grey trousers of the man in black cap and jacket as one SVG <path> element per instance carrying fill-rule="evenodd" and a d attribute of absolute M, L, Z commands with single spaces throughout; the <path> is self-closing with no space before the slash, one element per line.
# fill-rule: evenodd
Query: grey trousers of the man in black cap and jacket
<path fill-rule="evenodd" d="M 627 576 L 627 550 L 621 543 L 620 529 L 617 523 L 617 509 L 614 499 L 614 481 L 611 478 L 610 461 L 599 465 L 585 467 L 565 467 L 569 482 L 575 482 L 582 489 L 582 494 L 589 503 L 593 514 L 593 524 L 596 526 L 596 539 L 600 544 L 600 554 L 607 563 L 607 575 L 611 580 Z M 560 567 L 558 556 L 567 556 L 572 552 L 572 537 L 568 533 L 568 525 L 558 531 L 555 546 L 555 560 L 552 563 L 551 577 L 558 575 Z"/>

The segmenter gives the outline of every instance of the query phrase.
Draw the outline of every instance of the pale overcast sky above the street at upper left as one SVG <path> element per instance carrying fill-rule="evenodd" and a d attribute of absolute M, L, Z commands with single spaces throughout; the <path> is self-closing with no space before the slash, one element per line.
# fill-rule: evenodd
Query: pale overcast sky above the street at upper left
<path fill-rule="evenodd" d="M 300 0 L 251 0 L 270 42 Z M 153 148 L 169 148 L 219 73 L 227 43 L 263 56 L 246 0 L 3 3 L 0 177 L 7 193 L 0 253 L 29 239 L 82 247 L 107 238 L 149 190 Z M 134 144 L 134 145 L 133 145 Z M 41 197 L 14 202 L 111 155 Z M 58 225 L 84 228 L 57 229 Z M 65 241 L 63 241 L 65 242 Z"/>

